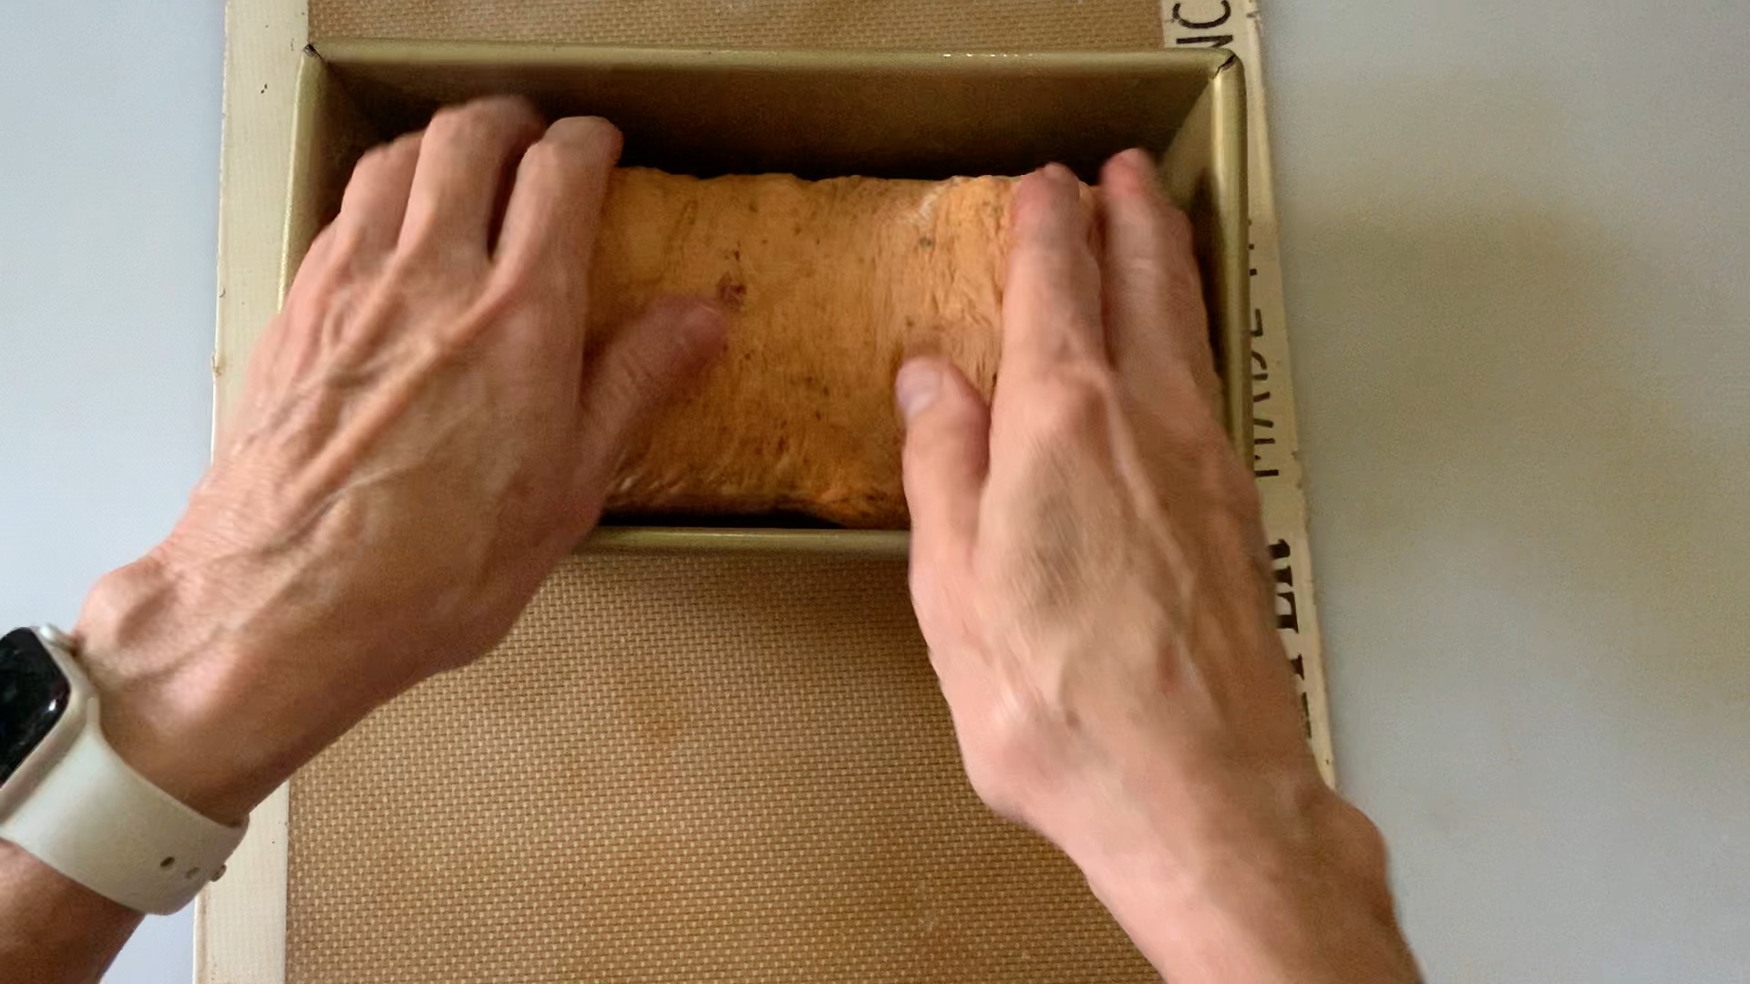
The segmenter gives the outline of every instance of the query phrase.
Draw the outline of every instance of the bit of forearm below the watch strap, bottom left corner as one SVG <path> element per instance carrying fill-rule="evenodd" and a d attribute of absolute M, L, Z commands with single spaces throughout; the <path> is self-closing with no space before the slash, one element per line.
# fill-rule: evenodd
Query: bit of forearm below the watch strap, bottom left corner
<path fill-rule="evenodd" d="M 0 966 L 16 984 L 96 980 L 140 914 L 0 840 Z"/>

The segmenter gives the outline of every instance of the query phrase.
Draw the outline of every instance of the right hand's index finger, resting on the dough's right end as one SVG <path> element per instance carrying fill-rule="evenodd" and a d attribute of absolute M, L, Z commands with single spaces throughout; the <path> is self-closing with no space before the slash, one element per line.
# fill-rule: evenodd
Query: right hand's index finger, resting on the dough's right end
<path fill-rule="evenodd" d="M 1082 182 L 1062 165 L 1020 179 L 1003 289 L 1003 375 L 1106 359 L 1099 263 Z"/>

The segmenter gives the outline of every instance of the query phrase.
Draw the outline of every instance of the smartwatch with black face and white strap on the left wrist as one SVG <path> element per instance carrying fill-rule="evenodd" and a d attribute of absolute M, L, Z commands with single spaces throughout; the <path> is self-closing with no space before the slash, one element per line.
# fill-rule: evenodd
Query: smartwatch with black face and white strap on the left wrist
<path fill-rule="evenodd" d="M 168 914 L 224 874 L 247 826 L 201 816 L 116 755 L 63 634 L 0 636 L 0 840 L 105 898 Z"/>

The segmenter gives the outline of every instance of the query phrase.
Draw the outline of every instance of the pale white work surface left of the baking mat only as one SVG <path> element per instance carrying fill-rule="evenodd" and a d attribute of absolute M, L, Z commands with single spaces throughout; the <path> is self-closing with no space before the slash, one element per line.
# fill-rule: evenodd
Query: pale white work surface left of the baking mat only
<path fill-rule="evenodd" d="M 206 464 L 219 0 L 0 0 L 0 623 L 72 625 Z M 119 984 L 192 977 L 192 909 Z M 5 970 L 0 968 L 0 977 Z"/>

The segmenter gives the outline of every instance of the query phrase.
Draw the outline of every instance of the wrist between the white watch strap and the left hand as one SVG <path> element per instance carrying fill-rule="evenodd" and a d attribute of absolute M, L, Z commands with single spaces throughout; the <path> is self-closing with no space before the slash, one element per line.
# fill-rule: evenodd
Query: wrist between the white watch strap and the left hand
<path fill-rule="evenodd" d="M 201 611 L 198 594 L 147 555 L 98 581 L 74 641 L 116 753 L 194 811 L 236 825 L 304 753 L 247 679 L 248 643 Z"/>

